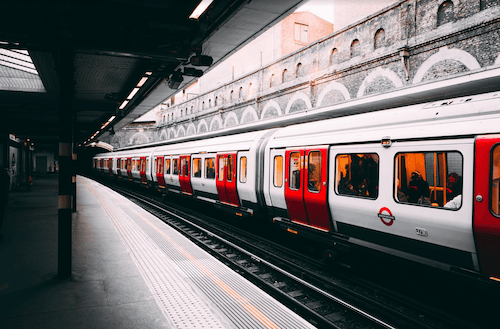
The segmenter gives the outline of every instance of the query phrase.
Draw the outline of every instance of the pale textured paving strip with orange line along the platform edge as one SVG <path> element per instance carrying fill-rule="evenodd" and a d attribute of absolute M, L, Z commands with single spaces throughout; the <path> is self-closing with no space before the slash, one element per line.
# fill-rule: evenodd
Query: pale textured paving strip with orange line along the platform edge
<path fill-rule="evenodd" d="M 161 295 L 159 298 L 161 303 L 175 304 L 175 306 L 168 306 L 171 312 L 167 313 L 168 317 L 175 316 L 176 323 L 184 325 L 192 316 L 200 316 L 200 310 L 197 308 L 196 314 L 192 315 L 192 310 L 189 309 L 190 302 L 185 301 L 191 296 L 185 295 L 184 290 L 171 287 L 186 284 L 187 281 L 188 286 L 196 287 L 194 290 L 198 294 L 201 292 L 210 301 L 209 304 L 212 306 L 207 306 L 207 309 L 213 310 L 212 307 L 216 307 L 219 312 L 215 313 L 222 313 L 222 316 L 219 315 L 218 325 L 223 325 L 223 327 L 314 328 L 173 228 L 164 225 L 156 217 L 128 200 L 126 206 L 124 204 L 123 207 L 128 208 L 125 213 L 113 205 L 111 200 L 104 198 L 103 193 L 95 189 L 91 191 L 98 197 L 110 218 L 117 225 L 120 234 L 123 232 L 123 239 L 130 240 L 126 242 L 127 245 L 130 244 L 129 248 L 134 251 L 134 254 L 137 253 L 140 259 L 144 259 L 140 266 L 147 280 L 151 281 L 155 294 Z M 115 196 L 116 194 L 112 191 L 106 192 L 106 196 L 110 195 L 113 195 L 116 200 L 122 199 L 121 196 Z M 182 282 L 178 283 L 176 280 Z M 170 296 L 166 296 L 168 294 Z M 196 292 L 193 294 L 195 299 L 199 297 Z M 185 299 L 180 301 L 179 298 Z M 184 313 L 181 315 L 182 312 Z M 205 328 L 209 328 L 207 322 L 203 324 Z M 190 324 L 178 328 L 198 327 Z"/>

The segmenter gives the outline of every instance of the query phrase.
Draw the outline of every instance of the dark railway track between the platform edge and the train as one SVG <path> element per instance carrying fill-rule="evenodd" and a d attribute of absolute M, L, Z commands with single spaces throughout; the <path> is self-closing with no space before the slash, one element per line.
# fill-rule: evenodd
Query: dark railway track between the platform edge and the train
<path fill-rule="evenodd" d="M 319 328 L 479 328 L 224 221 L 116 188 Z"/>

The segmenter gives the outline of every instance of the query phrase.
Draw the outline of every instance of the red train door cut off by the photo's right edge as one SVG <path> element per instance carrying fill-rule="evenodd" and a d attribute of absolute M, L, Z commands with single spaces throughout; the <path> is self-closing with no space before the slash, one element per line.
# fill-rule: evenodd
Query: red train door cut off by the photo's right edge
<path fill-rule="evenodd" d="M 476 139 L 474 235 L 481 271 L 500 279 L 500 135 Z"/>

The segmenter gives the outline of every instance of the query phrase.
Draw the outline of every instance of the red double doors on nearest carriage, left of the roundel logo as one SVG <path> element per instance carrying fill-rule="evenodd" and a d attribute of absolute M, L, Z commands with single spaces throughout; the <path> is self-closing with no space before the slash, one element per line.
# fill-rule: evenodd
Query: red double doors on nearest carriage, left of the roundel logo
<path fill-rule="evenodd" d="M 285 157 L 285 201 L 290 219 L 329 231 L 328 147 L 287 149 Z"/>

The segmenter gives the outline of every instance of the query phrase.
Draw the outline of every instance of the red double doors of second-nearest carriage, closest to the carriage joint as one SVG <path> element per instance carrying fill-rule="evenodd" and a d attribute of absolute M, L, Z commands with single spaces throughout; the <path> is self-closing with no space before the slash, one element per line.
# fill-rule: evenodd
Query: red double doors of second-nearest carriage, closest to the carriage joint
<path fill-rule="evenodd" d="M 217 193 L 219 200 L 233 206 L 239 206 L 236 190 L 236 152 L 217 154 Z"/>

